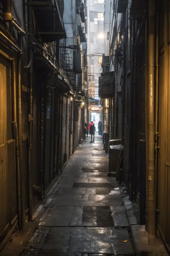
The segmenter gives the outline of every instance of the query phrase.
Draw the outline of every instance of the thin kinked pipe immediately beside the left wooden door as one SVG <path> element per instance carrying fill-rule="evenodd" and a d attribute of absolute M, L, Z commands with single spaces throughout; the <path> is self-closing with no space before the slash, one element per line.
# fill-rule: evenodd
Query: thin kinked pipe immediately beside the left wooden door
<path fill-rule="evenodd" d="M 16 172 L 17 172 L 17 202 L 18 202 L 18 225 L 21 229 L 21 183 L 20 183 L 20 160 L 19 160 L 19 139 L 18 139 L 18 126 L 17 126 L 17 111 L 16 111 L 16 69 L 15 60 L 12 62 L 13 66 L 13 87 L 14 87 L 14 121 L 13 121 L 13 133 L 16 143 Z"/>

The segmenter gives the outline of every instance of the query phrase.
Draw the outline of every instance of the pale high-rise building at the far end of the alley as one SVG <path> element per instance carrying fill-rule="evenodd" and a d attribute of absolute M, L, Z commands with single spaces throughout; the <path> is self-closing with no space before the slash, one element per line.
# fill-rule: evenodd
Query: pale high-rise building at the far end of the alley
<path fill-rule="evenodd" d="M 104 0 L 87 1 L 89 96 L 99 99 L 98 80 L 104 53 Z"/>

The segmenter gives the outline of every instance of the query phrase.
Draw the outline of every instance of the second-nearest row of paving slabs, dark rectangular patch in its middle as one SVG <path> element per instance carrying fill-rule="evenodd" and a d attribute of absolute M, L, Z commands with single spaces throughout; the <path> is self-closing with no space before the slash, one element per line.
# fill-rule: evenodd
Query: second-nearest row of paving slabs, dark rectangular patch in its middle
<path fill-rule="evenodd" d="M 120 206 L 121 207 L 121 206 Z M 57 226 L 116 226 L 128 227 L 126 212 L 117 214 L 117 206 L 55 206 L 48 208 L 39 225 Z"/>

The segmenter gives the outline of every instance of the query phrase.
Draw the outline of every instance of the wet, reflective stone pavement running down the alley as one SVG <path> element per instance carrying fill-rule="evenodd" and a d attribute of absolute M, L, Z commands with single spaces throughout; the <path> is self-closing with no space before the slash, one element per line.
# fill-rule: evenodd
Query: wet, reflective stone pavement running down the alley
<path fill-rule="evenodd" d="M 86 139 L 22 256 L 134 255 L 118 184 L 107 172 L 101 138 Z"/>

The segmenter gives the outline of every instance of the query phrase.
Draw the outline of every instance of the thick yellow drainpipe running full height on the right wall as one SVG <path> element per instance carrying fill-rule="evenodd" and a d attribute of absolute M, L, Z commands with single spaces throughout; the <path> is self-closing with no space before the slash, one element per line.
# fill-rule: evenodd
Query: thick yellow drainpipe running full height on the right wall
<path fill-rule="evenodd" d="M 154 127 L 154 65 L 155 65 L 155 0 L 148 0 L 148 161 L 147 205 L 148 244 L 155 244 L 155 127 Z"/>

